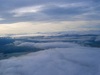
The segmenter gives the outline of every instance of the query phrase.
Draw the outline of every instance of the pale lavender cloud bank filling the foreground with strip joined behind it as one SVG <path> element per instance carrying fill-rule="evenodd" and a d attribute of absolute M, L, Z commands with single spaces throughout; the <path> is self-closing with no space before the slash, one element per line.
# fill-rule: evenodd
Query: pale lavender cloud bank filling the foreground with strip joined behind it
<path fill-rule="evenodd" d="M 100 75 L 100 48 L 62 42 L 34 46 L 45 50 L 0 60 L 0 75 Z"/>

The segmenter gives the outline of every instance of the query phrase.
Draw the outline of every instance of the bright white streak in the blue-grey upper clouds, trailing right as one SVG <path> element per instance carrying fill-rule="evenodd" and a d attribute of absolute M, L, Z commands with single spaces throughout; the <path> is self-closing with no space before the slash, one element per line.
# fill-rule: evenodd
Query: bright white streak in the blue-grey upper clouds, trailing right
<path fill-rule="evenodd" d="M 57 7 L 64 7 L 64 8 L 69 8 L 69 7 L 83 7 L 83 6 L 88 6 L 86 3 L 83 2 L 78 2 L 78 3 L 63 3 L 63 4 L 45 4 L 45 5 L 38 5 L 38 6 L 27 6 L 27 7 L 21 7 L 14 9 L 10 11 L 10 13 L 13 13 L 14 17 L 20 17 L 24 16 L 25 14 L 30 14 L 30 13 L 37 13 L 43 9 L 45 9 L 48 6 L 57 6 Z"/>

